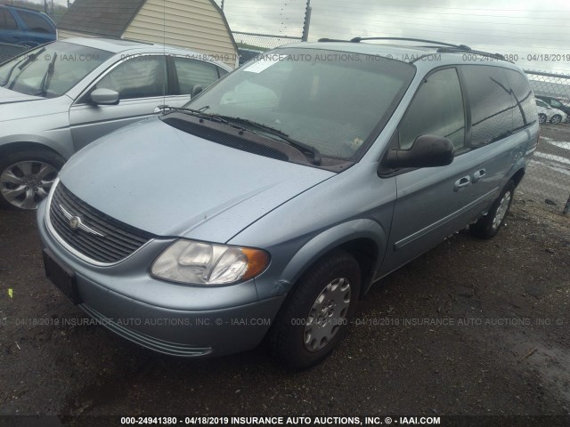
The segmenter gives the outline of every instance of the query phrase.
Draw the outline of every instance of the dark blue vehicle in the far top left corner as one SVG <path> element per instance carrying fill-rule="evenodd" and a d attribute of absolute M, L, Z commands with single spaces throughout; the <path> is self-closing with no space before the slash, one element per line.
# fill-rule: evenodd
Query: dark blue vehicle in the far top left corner
<path fill-rule="evenodd" d="M 56 38 L 55 24 L 45 13 L 0 4 L 0 43 L 35 47 Z"/>

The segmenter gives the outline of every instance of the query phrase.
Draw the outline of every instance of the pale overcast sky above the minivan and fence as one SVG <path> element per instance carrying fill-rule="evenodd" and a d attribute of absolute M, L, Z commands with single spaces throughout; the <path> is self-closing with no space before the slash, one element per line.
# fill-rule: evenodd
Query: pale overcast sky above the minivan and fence
<path fill-rule="evenodd" d="M 309 41 L 427 38 L 507 54 L 525 69 L 570 74 L 567 0 L 311 0 L 310 4 Z M 306 0 L 224 0 L 224 13 L 234 31 L 301 36 L 305 6 Z M 244 36 L 235 38 L 240 41 Z"/>

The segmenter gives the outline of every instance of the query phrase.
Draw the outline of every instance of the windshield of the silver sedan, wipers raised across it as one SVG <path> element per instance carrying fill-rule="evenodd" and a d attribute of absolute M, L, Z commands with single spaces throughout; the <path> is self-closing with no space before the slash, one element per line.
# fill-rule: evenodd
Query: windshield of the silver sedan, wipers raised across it
<path fill-rule="evenodd" d="M 80 44 L 45 44 L 0 65 L 0 87 L 44 98 L 61 96 L 112 54 Z"/>

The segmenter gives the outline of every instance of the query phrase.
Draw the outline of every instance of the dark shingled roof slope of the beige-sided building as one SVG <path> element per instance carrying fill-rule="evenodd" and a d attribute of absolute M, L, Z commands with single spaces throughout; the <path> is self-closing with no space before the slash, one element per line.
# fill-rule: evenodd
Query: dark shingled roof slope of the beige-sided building
<path fill-rule="evenodd" d="M 123 35 L 146 0 L 75 0 L 58 28 L 96 36 Z"/>

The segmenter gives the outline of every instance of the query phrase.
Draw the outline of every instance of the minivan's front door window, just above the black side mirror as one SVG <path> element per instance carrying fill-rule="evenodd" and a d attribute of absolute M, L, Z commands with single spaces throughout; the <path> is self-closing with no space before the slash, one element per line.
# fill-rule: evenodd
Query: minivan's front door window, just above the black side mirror
<path fill-rule="evenodd" d="M 400 149 L 410 149 L 421 135 L 443 136 L 455 149 L 465 145 L 465 114 L 455 68 L 426 77 L 411 101 L 399 127 Z"/>

